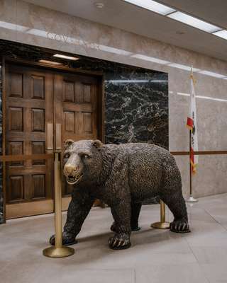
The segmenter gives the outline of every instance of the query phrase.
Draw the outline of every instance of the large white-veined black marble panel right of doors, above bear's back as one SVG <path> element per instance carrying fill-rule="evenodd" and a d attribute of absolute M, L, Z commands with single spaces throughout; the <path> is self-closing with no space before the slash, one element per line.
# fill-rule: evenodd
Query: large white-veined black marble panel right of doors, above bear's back
<path fill-rule="evenodd" d="M 148 71 L 106 74 L 106 142 L 168 148 L 167 76 Z"/>

